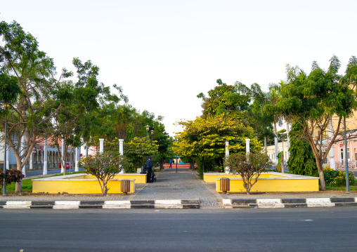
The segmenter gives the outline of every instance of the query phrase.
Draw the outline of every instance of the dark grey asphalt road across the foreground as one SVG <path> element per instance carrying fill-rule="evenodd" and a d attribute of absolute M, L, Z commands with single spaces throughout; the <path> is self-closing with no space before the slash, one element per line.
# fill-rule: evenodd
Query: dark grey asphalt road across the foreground
<path fill-rule="evenodd" d="M 0 251 L 356 251 L 357 207 L 0 210 Z"/>

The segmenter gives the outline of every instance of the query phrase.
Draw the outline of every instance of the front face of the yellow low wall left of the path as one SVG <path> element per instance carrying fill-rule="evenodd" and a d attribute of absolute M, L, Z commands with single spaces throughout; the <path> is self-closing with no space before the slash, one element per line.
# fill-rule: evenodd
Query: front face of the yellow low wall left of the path
<path fill-rule="evenodd" d="M 101 194 L 100 185 L 98 180 L 32 180 L 32 192 L 48 192 L 48 193 L 63 193 L 69 194 Z M 135 181 L 130 180 L 130 192 L 135 192 Z M 108 193 L 122 193 L 121 180 L 108 181 Z"/>

